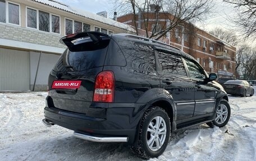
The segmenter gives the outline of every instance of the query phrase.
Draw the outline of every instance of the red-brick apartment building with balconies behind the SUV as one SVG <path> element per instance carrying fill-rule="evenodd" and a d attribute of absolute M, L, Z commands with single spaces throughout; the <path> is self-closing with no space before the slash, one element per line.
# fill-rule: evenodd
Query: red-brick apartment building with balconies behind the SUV
<path fill-rule="evenodd" d="M 158 24 L 157 27 L 154 27 L 156 26 L 156 18 L 154 18 L 156 13 L 147 13 L 149 17 L 148 31 L 152 31 L 154 28 L 158 30 L 166 29 L 166 26 L 170 24 L 170 19 L 173 18 L 172 15 L 168 15 L 170 17 L 167 19 L 166 13 L 159 12 L 158 14 Z M 136 15 L 138 20 L 136 24 L 139 29 L 144 30 L 145 26 L 140 17 L 140 15 Z M 134 26 L 134 15 L 130 13 L 119 16 L 117 21 Z M 143 34 L 145 36 L 145 32 Z M 167 35 L 170 36 L 166 36 L 168 40 L 165 39 L 164 42 L 193 56 L 208 73 L 217 73 L 218 77 L 235 77 L 236 48 L 234 46 L 191 24 L 177 26 Z"/>

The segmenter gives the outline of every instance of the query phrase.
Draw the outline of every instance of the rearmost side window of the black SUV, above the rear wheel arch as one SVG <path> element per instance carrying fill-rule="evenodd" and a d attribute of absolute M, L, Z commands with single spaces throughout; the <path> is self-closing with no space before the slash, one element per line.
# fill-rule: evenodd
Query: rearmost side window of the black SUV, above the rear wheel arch
<path fill-rule="evenodd" d="M 124 53 L 127 66 L 148 71 L 156 70 L 156 61 L 152 46 L 134 44 L 134 42 L 130 40 L 120 40 L 118 44 Z"/>

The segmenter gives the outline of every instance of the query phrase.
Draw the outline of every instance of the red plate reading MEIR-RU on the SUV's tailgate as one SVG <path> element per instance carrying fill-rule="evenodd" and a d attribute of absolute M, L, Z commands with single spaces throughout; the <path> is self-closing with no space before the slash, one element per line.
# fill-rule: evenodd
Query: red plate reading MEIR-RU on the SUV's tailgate
<path fill-rule="evenodd" d="M 79 89 L 81 81 L 72 80 L 55 80 L 52 84 L 52 89 Z"/>

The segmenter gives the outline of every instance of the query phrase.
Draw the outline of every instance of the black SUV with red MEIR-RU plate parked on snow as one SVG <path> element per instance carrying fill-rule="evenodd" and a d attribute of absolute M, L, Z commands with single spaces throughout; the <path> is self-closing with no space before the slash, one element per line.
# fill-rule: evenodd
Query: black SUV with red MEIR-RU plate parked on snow
<path fill-rule="evenodd" d="M 130 34 L 71 34 L 49 75 L 43 123 L 97 142 L 128 142 L 142 158 L 158 157 L 171 132 L 207 123 L 225 126 L 228 97 L 180 49 Z"/>

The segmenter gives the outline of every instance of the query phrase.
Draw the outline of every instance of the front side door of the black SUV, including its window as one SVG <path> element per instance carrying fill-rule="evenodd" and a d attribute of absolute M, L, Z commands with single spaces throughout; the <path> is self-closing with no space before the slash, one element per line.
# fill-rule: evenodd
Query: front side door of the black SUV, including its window
<path fill-rule="evenodd" d="M 197 62 L 186 58 L 185 62 L 195 87 L 195 112 L 193 116 L 213 112 L 218 90 L 213 87 L 212 82 L 204 82 L 207 75 Z"/>

